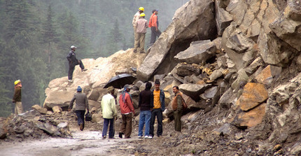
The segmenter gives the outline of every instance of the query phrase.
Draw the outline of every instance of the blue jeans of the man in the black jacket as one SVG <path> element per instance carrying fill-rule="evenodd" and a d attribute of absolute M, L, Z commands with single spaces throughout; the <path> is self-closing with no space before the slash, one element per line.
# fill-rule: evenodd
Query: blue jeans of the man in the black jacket
<path fill-rule="evenodd" d="M 146 125 L 144 136 L 149 136 L 150 120 L 151 120 L 151 111 L 140 111 L 138 136 L 142 136 L 144 131 L 144 124 Z"/>

